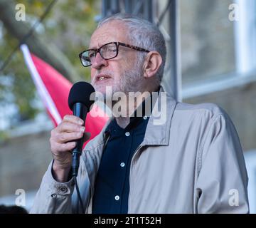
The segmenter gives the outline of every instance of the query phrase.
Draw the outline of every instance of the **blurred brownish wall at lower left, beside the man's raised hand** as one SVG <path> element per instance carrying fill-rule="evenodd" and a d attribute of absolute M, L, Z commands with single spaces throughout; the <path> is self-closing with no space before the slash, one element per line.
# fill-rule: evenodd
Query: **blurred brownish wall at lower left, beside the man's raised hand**
<path fill-rule="evenodd" d="M 11 138 L 0 145 L 0 197 L 38 189 L 51 160 L 50 133 Z"/>

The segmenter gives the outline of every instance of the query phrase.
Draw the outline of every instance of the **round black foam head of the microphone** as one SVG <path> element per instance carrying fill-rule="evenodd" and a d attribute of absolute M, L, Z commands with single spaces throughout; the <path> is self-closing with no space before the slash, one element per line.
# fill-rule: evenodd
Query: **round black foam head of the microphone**
<path fill-rule="evenodd" d="M 91 105 L 95 102 L 94 97 L 92 97 L 93 99 L 90 100 L 91 94 L 95 95 L 95 89 L 90 83 L 85 81 L 75 83 L 70 89 L 70 93 L 68 95 L 69 108 L 73 110 L 73 105 L 75 103 L 82 103 L 87 107 L 88 110 L 90 110 Z"/>

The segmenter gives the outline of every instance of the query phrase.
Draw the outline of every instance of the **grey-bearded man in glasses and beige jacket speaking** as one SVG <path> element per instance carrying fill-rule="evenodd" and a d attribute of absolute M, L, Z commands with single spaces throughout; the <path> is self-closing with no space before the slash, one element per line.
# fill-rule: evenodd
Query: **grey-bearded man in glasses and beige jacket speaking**
<path fill-rule="evenodd" d="M 80 60 L 90 67 L 97 93 L 106 103 L 112 100 L 113 113 L 80 157 L 85 213 L 249 212 L 235 127 L 217 105 L 178 103 L 164 91 L 166 46 L 159 28 L 134 16 L 110 16 L 100 21 Z M 127 99 L 114 100 L 116 93 Z M 117 104 L 125 108 L 121 115 Z M 159 109 L 164 118 L 157 122 Z M 70 177 L 70 151 L 84 131 L 74 115 L 52 130 L 53 161 L 31 213 L 82 212 Z"/>

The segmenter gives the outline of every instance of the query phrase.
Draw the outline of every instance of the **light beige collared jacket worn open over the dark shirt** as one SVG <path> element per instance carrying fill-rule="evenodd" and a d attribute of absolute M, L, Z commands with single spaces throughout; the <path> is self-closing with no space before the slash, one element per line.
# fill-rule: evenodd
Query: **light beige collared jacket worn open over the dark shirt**
<path fill-rule="evenodd" d="M 154 110 L 159 108 L 156 100 Z M 167 95 L 165 123 L 151 116 L 142 144 L 132 157 L 128 213 L 247 213 L 247 171 L 240 141 L 228 115 L 218 106 L 177 103 Z M 154 112 L 153 110 L 153 112 Z M 80 157 L 78 185 L 87 213 L 102 150 L 104 130 Z M 122 146 L 120 145 L 120 152 Z M 31 213 L 72 213 L 74 182 L 43 176 Z"/>

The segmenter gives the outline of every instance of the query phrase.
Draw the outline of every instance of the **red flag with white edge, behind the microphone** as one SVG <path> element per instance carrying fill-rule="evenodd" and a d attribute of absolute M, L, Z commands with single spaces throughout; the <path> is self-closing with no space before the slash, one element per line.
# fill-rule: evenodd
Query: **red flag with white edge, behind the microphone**
<path fill-rule="evenodd" d="M 28 46 L 25 44 L 21 45 L 21 50 L 38 93 L 46 106 L 51 120 L 57 126 L 64 115 L 72 114 L 68 107 L 68 94 L 72 83 L 48 63 L 30 53 Z M 91 133 L 90 139 L 100 133 L 107 119 L 107 115 L 97 105 L 93 105 L 85 121 L 85 130 Z"/>

